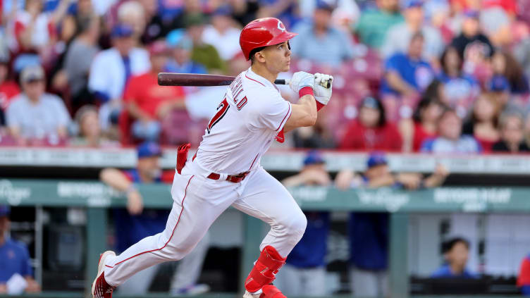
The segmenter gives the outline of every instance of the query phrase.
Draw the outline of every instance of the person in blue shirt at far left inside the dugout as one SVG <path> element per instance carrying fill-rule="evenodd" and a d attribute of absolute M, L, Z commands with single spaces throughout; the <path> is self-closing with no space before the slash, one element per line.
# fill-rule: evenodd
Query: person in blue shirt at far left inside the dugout
<path fill-rule="evenodd" d="M 7 237 L 10 213 L 9 206 L 0 205 L 0 294 L 40 292 L 39 284 L 33 279 L 26 244 Z"/>

